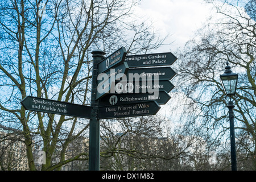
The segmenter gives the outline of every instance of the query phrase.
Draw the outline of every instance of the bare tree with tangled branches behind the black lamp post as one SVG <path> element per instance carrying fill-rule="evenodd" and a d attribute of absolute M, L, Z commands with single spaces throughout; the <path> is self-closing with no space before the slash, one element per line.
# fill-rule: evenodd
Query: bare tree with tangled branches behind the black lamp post
<path fill-rule="evenodd" d="M 228 100 L 220 83 L 228 61 L 232 71 L 239 73 L 234 108 L 238 169 L 255 170 L 255 3 L 248 2 L 247 13 L 235 5 L 216 4 L 217 19 L 210 19 L 179 54 L 180 92 L 187 96 L 184 111 L 191 116 L 188 126 L 197 126 L 205 138 L 213 136 L 212 143 L 229 137 Z M 243 160 L 250 165 L 243 166 Z"/>

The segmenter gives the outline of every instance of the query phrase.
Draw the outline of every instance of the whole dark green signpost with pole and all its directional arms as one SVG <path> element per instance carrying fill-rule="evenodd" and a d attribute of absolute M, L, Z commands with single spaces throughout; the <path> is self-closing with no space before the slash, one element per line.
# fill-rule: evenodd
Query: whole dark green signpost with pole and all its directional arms
<path fill-rule="evenodd" d="M 159 111 L 159 105 L 166 104 L 171 98 L 168 93 L 174 85 L 170 80 L 176 73 L 166 66 L 172 65 L 177 57 L 171 52 L 126 54 L 124 47 L 106 58 L 101 50 L 92 52 L 91 106 L 31 96 L 20 101 L 26 110 L 90 119 L 90 171 L 100 169 L 100 119 L 154 115 Z M 134 76 L 132 80 L 130 75 Z"/>

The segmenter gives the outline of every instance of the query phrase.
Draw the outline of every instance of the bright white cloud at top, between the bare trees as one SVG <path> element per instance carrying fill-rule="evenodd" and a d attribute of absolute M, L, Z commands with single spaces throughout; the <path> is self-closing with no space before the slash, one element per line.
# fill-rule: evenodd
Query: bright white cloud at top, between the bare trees
<path fill-rule="evenodd" d="M 203 0 L 142 0 L 135 12 L 151 20 L 160 35 L 171 35 L 172 46 L 162 48 L 170 51 L 192 38 L 211 14 L 211 7 Z"/>

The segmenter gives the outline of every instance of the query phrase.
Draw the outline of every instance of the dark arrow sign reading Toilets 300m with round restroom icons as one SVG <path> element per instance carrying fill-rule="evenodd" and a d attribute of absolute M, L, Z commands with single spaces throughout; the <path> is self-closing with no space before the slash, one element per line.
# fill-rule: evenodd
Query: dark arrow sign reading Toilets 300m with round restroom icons
<path fill-rule="evenodd" d="M 143 81 L 119 81 L 115 82 L 115 93 L 152 93 L 166 91 L 171 92 L 174 85 L 169 80 L 159 80 L 158 83 Z"/>

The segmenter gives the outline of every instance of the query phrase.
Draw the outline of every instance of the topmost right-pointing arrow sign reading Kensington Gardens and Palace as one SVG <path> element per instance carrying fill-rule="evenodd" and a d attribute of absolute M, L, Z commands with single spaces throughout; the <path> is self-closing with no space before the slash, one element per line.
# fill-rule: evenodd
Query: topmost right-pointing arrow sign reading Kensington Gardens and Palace
<path fill-rule="evenodd" d="M 129 68 L 172 65 L 177 60 L 171 52 L 126 56 Z"/>

